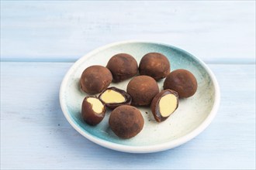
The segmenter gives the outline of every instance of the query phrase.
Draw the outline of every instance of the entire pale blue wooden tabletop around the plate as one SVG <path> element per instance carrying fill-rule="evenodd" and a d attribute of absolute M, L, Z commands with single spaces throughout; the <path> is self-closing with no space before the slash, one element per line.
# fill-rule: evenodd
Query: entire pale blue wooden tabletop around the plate
<path fill-rule="evenodd" d="M 59 88 L 109 42 L 164 42 L 202 59 L 220 109 L 185 145 L 127 154 L 67 123 Z M 255 1 L 1 1 L 1 169 L 255 169 Z"/>

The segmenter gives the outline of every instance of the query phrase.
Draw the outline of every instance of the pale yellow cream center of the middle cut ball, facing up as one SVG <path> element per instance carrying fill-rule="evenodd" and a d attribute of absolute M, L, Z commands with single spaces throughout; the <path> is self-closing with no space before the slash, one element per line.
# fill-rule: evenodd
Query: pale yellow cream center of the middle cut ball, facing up
<path fill-rule="evenodd" d="M 115 90 L 106 90 L 104 93 L 102 93 L 101 99 L 106 104 L 112 104 L 112 103 L 123 103 L 126 99 L 123 97 L 122 94 L 116 92 Z"/>

